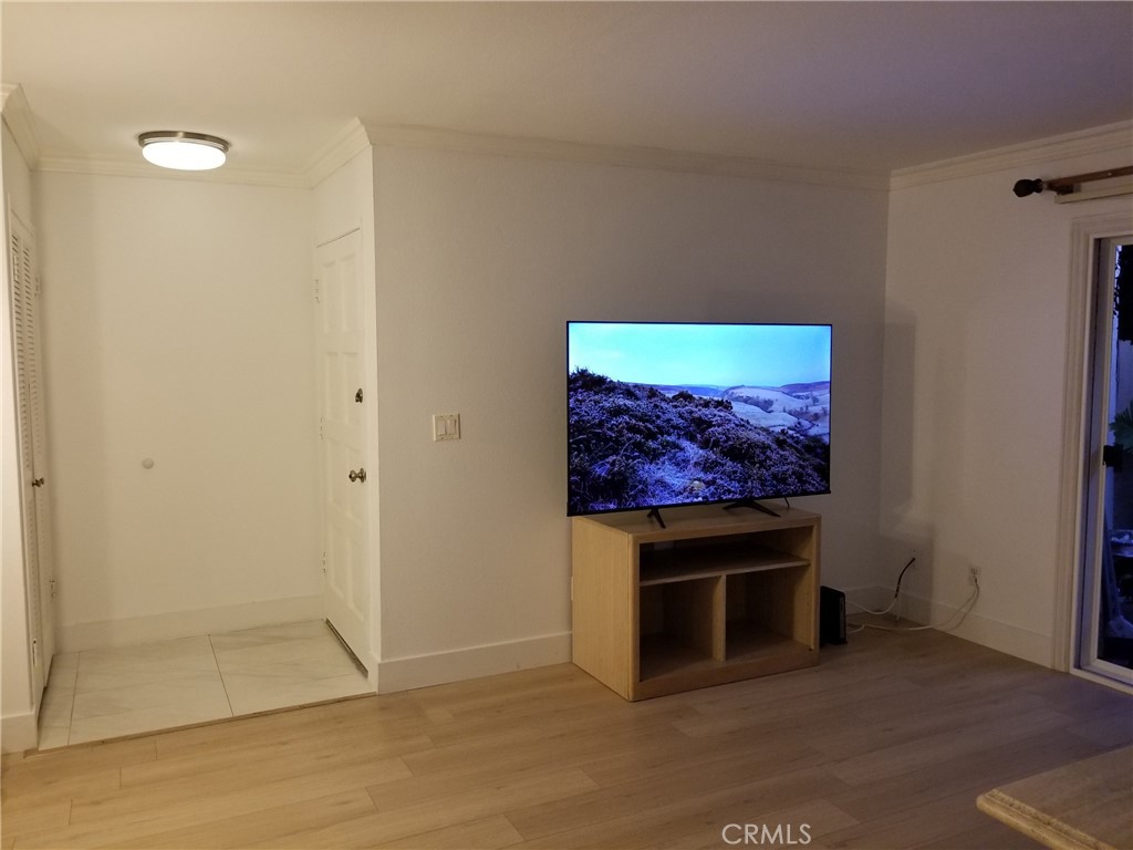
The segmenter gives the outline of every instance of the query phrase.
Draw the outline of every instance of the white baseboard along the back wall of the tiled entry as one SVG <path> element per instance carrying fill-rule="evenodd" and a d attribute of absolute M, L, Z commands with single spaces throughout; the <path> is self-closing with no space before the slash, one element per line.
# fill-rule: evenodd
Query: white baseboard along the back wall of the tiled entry
<path fill-rule="evenodd" d="M 111 649 L 131 644 L 144 644 L 150 640 L 172 640 L 219 631 L 238 631 L 274 623 L 318 620 L 322 617 L 322 596 L 293 596 L 222 607 L 130 617 L 122 620 L 102 620 L 69 626 L 60 623 L 56 631 L 58 640 L 56 652 Z"/>

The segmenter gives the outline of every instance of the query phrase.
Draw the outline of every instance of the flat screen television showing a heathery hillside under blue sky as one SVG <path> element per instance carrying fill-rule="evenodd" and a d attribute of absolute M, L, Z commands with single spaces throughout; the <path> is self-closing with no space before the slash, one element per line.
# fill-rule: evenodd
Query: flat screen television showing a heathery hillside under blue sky
<path fill-rule="evenodd" d="M 568 515 L 829 493 L 830 341 L 829 324 L 568 322 Z"/>

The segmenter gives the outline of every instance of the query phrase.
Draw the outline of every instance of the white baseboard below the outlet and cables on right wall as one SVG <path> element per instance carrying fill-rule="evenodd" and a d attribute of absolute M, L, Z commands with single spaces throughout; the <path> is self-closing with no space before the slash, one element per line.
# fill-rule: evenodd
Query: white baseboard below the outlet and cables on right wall
<path fill-rule="evenodd" d="M 851 601 L 875 611 L 884 610 L 893 601 L 893 589 L 885 587 L 854 587 L 844 589 L 843 593 L 846 595 L 846 617 L 854 613 L 853 606 L 849 604 Z M 945 605 L 904 590 L 901 592 L 900 611 L 906 620 L 940 623 L 944 627 L 942 631 L 989 649 L 1045 668 L 1054 665 L 1054 639 L 1049 635 L 1022 629 L 976 611 L 970 612 L 960 626 L 954 626 L 960 620 L 960 606 Z"/>

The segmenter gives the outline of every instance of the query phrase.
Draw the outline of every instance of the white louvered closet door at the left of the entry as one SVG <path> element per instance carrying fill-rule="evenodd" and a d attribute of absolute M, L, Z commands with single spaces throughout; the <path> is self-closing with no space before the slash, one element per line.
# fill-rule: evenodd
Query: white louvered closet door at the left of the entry
<path fill-rule="evenodd" d="M 52 563 L 48 500 L 46 434 L 40 371 L 40 292 L 35 267 L 35 239 L 14 213 L 10 233 L 12 342 L 16 359 L 16 405 L 19 424 L 20 495 L 24 562 L 32 624 L 33 694 L 39 699 L 54 654 Z"/>

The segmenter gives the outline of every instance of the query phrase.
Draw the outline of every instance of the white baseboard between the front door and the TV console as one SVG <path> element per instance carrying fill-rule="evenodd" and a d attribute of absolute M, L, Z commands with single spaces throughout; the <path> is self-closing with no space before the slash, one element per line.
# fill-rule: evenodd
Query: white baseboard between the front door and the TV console
<path fill-rule="evenodd" d="M 570 660 L 569 631 L 431 655 L 392 658 L 378 665 L 377 690 L 380 694 L 392 694 L 513 670 L 562 664 Z"/>

